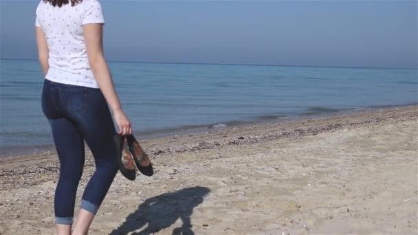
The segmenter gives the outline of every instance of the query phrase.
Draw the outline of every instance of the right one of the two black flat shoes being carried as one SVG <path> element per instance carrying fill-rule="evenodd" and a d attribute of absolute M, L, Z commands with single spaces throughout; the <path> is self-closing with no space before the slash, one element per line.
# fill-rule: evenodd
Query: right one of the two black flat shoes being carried
<path fill-rule="evenodd" d="M 140 143 L 137 142 L 133 135 L 126 135 L 126 139 L 128 139 L 129 151 L 132 153 L 138 170 L 146 176 L 154 175 L 153 164 L 151 164 L 151 160 L 140 146 Z"/>

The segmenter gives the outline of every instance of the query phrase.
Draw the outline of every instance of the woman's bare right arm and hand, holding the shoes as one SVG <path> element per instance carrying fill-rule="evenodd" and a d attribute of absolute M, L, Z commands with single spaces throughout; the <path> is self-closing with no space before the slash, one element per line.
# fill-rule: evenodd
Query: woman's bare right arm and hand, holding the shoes
<path fill-rule="evenodd" d="M 129 121 L 124 111 L 122 111 L 109 67 L 104 59 L 102 41 L 103 25 L 100 23 L 87 23 L 83 25 L 83 29 L 91 71 L 98 82 L 104 98 L 106 98 L 107 103 L 113 111 L 113 117 L 119 127 L 119 133 L 122 135 L 131 134 L 131 121 Z"/>

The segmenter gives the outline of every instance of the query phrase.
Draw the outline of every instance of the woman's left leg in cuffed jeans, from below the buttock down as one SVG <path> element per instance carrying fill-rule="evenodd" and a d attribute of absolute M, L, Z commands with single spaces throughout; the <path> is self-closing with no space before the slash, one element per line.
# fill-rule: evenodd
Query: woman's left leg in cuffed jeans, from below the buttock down
<path fill-rule="evenodd" d="M 85 161 L 84 140 L 72 122 L 65 118 L 49 120 L 56 152 L 60 161 L 60 177 L 55 190 L 55 223 L 58 234 L 70 234 L 78 182 Z"/>

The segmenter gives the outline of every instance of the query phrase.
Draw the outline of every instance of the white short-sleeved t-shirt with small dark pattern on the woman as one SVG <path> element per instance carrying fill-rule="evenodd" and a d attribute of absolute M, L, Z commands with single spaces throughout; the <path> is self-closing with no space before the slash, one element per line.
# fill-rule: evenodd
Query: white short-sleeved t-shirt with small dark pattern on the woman
<path fill-rule="evenodd" d="M 87 58 L 83 25 L 104 23 L 102 8 L 97 0 L 83 0 L 52 6 L 41 1 L 36 8 L 36 23 L 45 32 L 50 69 L 45 78 L 54 82 L 98 88 Z"/>

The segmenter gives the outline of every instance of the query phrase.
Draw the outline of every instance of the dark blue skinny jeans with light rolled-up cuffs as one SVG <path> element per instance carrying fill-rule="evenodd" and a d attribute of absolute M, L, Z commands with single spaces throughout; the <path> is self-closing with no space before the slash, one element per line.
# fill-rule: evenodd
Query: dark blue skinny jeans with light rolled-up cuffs
<path fill-rule="evenodd" d="M 71 225 L 78 182 L 83 173 L 85 145 L 94 155 L 96 171 L 85 188 L 81 208 L 96 214 L 118 172 L 115 126 L 100 89 L 45 79 L 42 109 L 52 128 L 60 161 L 55 191 L 55 223 Z"/>

